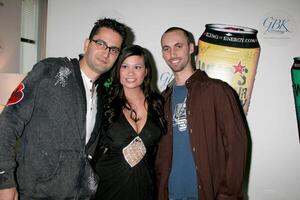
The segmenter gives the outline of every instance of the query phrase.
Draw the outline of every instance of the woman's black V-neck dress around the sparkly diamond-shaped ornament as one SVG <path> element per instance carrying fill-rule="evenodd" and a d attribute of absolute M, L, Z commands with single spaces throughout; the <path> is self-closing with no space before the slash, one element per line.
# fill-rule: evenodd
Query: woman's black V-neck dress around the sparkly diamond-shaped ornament
<path fill-rule="evenodd" d="M 121 114 L 119 120 L 105 133 L 103 143 L 108 150 L 95 166 L 100 178 L 96 199 L 153 200 L 154 156 L 161 134 L 161 129 L 149 115 L 138 134 L 124 114 Z M 146 154 L 137 165 L 130 167 L 123 156 L 122 149 L 137 136 L 142 139 Z"/>

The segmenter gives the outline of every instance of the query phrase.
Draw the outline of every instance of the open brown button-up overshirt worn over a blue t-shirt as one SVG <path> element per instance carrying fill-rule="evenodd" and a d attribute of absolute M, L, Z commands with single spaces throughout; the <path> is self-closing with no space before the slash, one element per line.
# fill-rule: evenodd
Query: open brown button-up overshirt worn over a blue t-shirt
<path fill-rule="evenodd" d="M 233 89 L 197 70 L 187 81 L 187 121 L 201 200 L 242 199 L 247 129 Z M 172 163 L 172 87 L 163 92 L 168 131 L 156 159 L 159 200 L 168 199 Z M 184 162 L 184 161 L 183 161 Z"/>

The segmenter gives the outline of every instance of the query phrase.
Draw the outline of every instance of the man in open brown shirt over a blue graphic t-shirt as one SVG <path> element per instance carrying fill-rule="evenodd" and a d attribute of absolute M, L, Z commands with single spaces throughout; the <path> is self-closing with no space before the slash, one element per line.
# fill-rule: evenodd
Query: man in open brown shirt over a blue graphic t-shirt
<path fill-rule="evenodd" d="M 192 65 L 191 34 L 165 31 L 162 55 L 174 73 L 163 92 L 168 121 L 156 159 L 159 200 L 238 200 L 247 129 L 233 89 Z"/>

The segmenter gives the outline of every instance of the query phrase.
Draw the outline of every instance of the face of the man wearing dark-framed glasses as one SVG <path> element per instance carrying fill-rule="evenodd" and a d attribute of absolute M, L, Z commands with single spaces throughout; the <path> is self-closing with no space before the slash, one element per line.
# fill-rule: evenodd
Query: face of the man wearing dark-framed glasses
<path fill-rule="evenodd" d="M 105 42 L 106 47 L 103 48 L 95 41 Z M 87 65 L 84 71 L 87 74 L 101 75 L 110 70 L 118 58 L 118 54 L 112 54 L 110 49 L 121 49 L 123 39 L 122 36 L 110 28 L 102 27 L 93 40 L 86 40 L 84 44 L 84 60 Z"/>

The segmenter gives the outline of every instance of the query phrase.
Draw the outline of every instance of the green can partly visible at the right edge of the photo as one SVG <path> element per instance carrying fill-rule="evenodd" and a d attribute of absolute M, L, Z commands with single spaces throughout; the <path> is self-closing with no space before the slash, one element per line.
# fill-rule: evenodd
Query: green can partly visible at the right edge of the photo
<path fill-rule="evenodd" d="M 296 107 L 298 132 L 300 132 L 300 57 L 294 58 L 294 64 L 291 69 L 291 74 L 292 74 L 292 83 L 293 83 L 293 91 L 294 91 L 294 99 L 295 99 L 295 107 Z"/>

